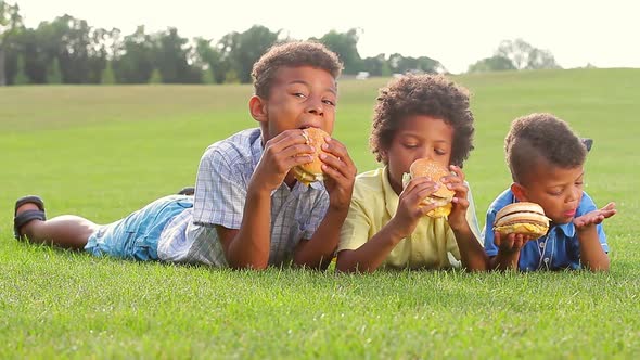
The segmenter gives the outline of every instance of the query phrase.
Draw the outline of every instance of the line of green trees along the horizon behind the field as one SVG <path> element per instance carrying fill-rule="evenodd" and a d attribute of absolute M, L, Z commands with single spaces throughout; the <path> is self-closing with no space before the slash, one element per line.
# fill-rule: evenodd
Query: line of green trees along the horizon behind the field
<path fill-rule="evenodd" d="M 251 68 L 271 46 L 291 40 L 282 30 L 254 25 L 219 40 L 188 39 L 178 29 L 132 34 L 90 26 L 65 14 L 36 28 L 24 25 L 20 7 L 0 0 L 0 86 L 24 83 L 230 83 L 251 82 Z M 446 73 L 428 56 L 399 53 L 362 59 L 359 30 L 331 30 L 320 38 L 343 61 L 345 75 L 371 76 Z M 495 56 L 478 61 L 470 72 L 558 67 L 553 56 L 523 40 L 505 41 Z"/>

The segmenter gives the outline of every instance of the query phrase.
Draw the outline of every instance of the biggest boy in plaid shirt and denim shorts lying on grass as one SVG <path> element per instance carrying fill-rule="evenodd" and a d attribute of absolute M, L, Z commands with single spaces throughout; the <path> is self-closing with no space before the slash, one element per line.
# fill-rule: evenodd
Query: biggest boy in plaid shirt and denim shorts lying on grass
<path fill-rule="evenodd" d="M 335 157 L 320 156 L 324 183 L 305 187 L 290 170 L 311 160 L 303 129 L 332 132 L 341 70 L 337 56 L 319 43 L 271 48 L 252 72 L 248 107 L 260 127 L 206 150 L 194 196 L 163 197 L 108 226 L 76 216 L 47 221 L 42 201 L 27 196 L 16 202 L 16 237 L 138 260 L 324 268 L 348 210 L 356 168 L 345 146 L 328 139 L 324 150 Z"/>

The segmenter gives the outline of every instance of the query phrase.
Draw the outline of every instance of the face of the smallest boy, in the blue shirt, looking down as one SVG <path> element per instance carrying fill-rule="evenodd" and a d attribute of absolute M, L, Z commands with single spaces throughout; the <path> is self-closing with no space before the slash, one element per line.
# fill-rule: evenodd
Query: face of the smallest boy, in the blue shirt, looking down
<path fill-rule="evenodd" d="M 583 198 L 583 166 L 561 168 L 538 162 L 521 183 L 512 185 L 519 201 L 537 203 L 554 223 L 573 220 Z"/>

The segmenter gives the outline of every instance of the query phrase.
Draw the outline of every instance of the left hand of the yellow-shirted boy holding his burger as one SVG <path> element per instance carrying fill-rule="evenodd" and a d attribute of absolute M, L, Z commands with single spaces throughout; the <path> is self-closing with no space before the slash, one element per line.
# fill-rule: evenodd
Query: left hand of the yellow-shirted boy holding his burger
<path fill-rule="evenodd" d="M 433 194 L 439 184 L 426 177 L 413 178 L 400 193 L 398 209 L 391 222 L 394 223 L 402 237 L 415 230 L 418 221 L 433 210 L 434 204 L 422 205 L 421 202 Z"/>

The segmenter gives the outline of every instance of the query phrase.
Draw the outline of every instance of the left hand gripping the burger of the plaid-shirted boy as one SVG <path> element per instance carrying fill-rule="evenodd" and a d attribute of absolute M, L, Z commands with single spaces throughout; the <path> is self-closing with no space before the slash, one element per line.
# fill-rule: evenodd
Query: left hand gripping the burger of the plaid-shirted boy
<path fill-rule="evenodd" d="M 313 149 L 307 145 L 303 130 L 285 130 L 267 141 L 265 152 L 252 177 L 252 182 L 273 191 L 280 187 L 292 167 L 310 163 Z"/>

